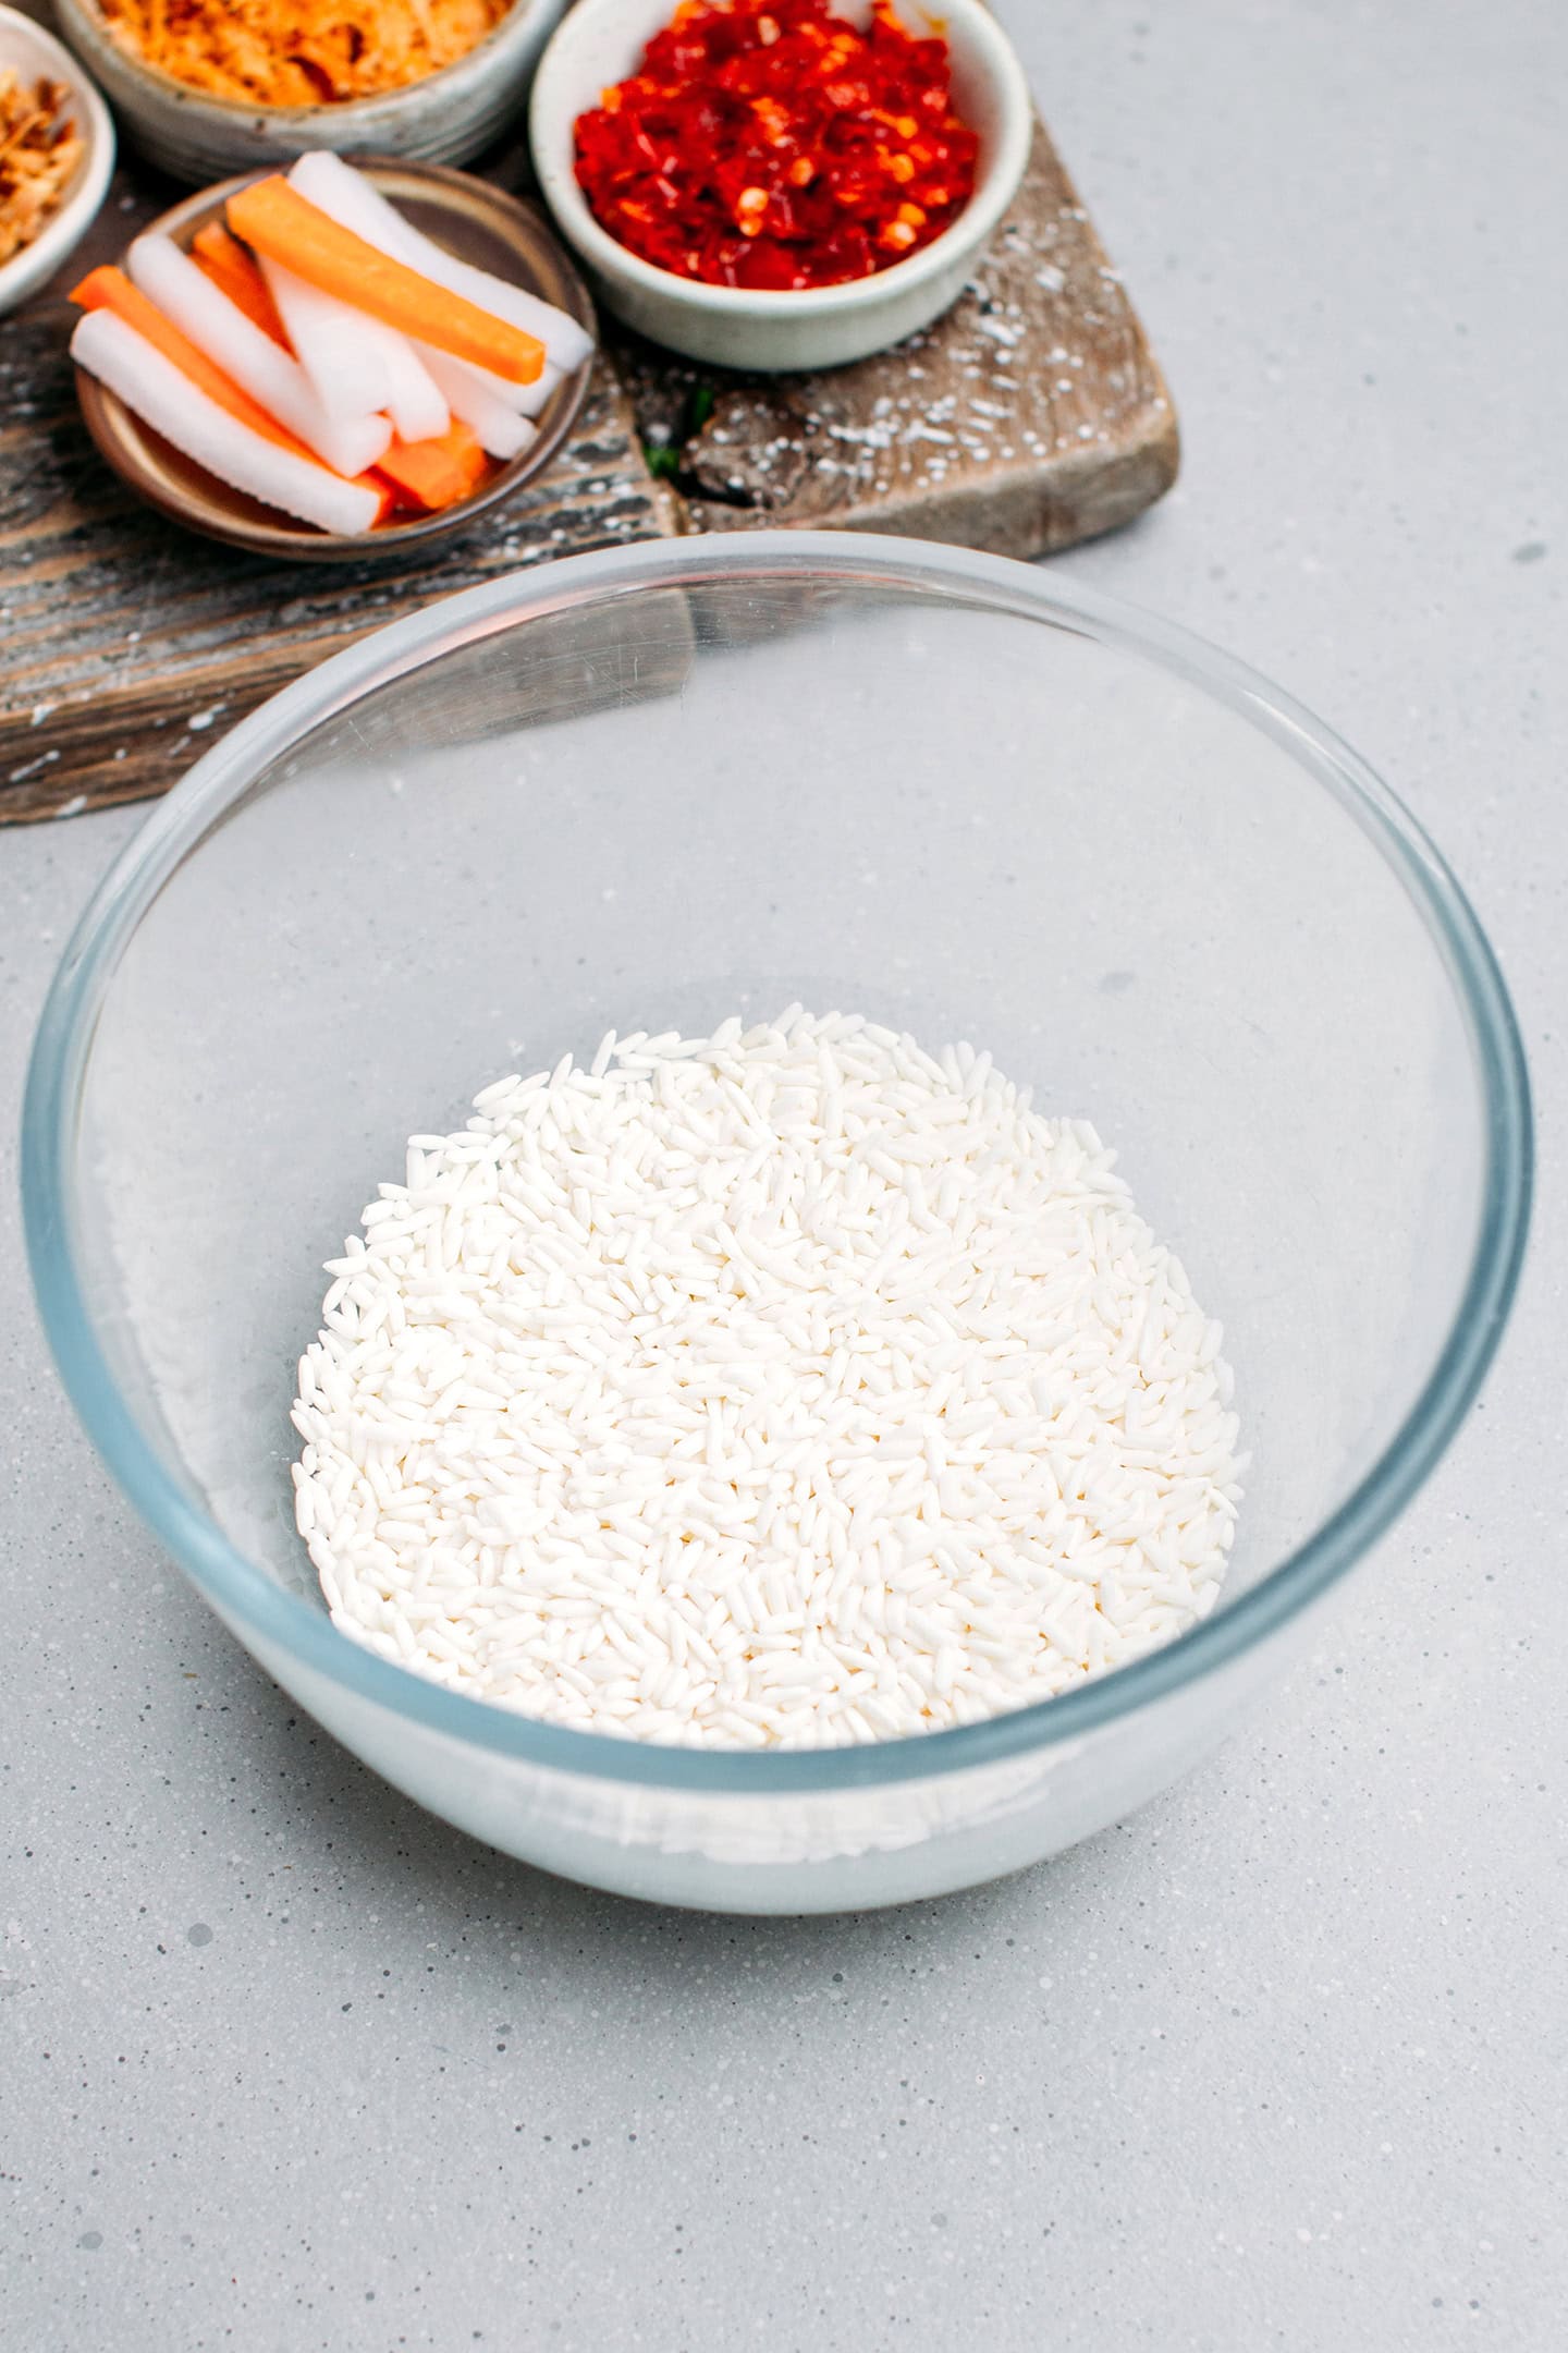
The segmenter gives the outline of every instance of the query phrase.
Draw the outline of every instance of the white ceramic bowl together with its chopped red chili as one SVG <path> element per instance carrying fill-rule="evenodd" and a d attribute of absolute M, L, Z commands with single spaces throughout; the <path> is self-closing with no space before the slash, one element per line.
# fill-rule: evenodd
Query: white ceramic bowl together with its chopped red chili
<path fill-rule="evenodd" d="M 628 325 L 835 367 L 964 289 L 1030 151 L 980 0 L 581 0 L 534 85 L 538 179 Z"/>

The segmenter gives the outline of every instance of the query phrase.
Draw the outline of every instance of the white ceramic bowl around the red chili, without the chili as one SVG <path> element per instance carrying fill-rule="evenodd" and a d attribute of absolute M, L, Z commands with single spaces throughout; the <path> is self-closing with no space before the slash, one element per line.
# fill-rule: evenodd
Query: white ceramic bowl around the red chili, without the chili
<path fill-rule="evenodd" d="M 870 0 L 839 0 L 856 24 Z M 529 129 L 534 169 L 564 238 L 585 264 L 607 311 L 691 360 L 719 367 L 842 367 L 929 327 L 959 294 L 1018 193 L 1030 160 L 1030 85 L 1006 35 L 980 0 L 900 0 L 910 28 L 929 24 L 952 49 L 952 94 L 980 139 L 976 193 L 940 238 L 875 278 L 839 287 L 755 294 L 677 278 L 599 228 L 576 184 L 576 118 L 609 82 L 637 71 L 672 0 L 578 0 L 545 49 L 534 80 Z"/>

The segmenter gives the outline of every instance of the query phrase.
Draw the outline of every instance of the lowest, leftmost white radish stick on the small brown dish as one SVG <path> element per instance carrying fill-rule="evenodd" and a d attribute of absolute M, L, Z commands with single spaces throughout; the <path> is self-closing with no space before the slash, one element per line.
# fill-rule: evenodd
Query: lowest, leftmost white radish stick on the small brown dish
<path fill-rule="evenodd" d="M 89 311 L 78 320 L 71 358 L 230 489 L 322 532 L 360 536 L 381 513 L 374 489 L 343 482 L 313 459 L 252 433 L 113 311 Z"/>

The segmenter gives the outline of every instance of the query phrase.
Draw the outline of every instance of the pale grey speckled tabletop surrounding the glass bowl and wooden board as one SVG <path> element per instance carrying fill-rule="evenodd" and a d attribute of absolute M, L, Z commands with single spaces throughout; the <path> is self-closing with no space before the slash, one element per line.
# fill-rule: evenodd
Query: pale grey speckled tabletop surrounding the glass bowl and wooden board
<path fill-rule="evenodd" d="M 1559 0 L 1009 0 L 1166 362 L 1067 569 L 1410 800 L 1526 1026 L 1505 1358 L 1319 1652 L 1065 1861 L 811 1925 L 414 1812 L 132 1520 L 0 1186 L 0 2341 L 1561 2341 L 1568 318 Z M 0 1096 L 141 812 L 0 835 Z"/>

